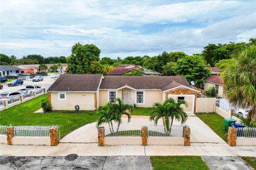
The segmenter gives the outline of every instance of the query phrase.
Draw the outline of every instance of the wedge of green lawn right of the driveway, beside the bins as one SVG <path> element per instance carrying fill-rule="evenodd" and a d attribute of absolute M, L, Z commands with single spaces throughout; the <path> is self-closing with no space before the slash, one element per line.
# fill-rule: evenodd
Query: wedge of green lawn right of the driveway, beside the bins
<path fill-rule="evenodd" d="M 205 124 L 227 142 L 228 137 L 225 131 L 224 118 L 217 113 L 198 113 L 196 114 Z"/>

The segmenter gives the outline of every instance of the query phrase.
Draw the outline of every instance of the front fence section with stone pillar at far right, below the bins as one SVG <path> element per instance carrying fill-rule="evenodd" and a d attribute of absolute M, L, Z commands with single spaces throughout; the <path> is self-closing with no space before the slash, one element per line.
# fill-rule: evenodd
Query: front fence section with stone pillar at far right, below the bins
<path fill-rule="evenodd" d="M 228 129 L 228 145 L 230 146 L 256 146 L 256 128 Z"/>

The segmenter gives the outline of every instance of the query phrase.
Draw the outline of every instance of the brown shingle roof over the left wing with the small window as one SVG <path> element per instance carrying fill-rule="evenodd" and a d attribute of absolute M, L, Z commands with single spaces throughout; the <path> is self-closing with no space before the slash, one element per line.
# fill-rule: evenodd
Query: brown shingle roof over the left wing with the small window
<path fill-rule="evenodd" d="M 62 74 L 47 91 L 97 91 L 101 74 Z"/>

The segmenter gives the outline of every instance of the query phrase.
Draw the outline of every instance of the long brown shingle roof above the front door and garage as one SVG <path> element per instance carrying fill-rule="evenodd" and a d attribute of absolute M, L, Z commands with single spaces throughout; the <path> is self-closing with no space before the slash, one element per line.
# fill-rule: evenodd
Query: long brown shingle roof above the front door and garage
<path fill-rule="evenodd" d="M 161 89 L 167 90 L 168 85 L 176 82 L 190 87 L 188 81 L 182 76 L 105 76 L 100 89 L 117 89 L 128 85 L 135 89 Z M 170 87 L 174 87 L 174 84 Z M 177 86 L 175 86 L 177 87 Z"/>

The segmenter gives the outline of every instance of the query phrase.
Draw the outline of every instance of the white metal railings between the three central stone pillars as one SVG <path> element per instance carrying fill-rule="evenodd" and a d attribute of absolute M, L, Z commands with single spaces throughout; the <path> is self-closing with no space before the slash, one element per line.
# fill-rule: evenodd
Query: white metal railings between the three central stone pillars
<path fill-rule="evenodd" d="M 140 137 L 141 127 L 105 127 L 105 137 Z M 148 126 L 149 137 L 183 137 L 183 125 L 174 125 L 170 131 L 166 131 L 164 126 Z"/>

